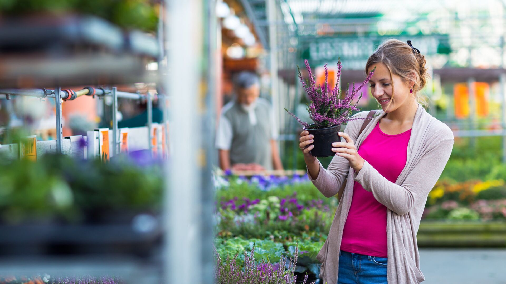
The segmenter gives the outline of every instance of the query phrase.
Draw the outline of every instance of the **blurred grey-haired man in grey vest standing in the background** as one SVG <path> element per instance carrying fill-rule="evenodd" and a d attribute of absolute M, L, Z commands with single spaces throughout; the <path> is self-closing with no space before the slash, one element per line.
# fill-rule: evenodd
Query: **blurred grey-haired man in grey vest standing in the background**
<path fill-rule="evenodd" d="M 269 102 L 259 98 L 258 76 L 240 72 L 234 90 L 234 100 L 222 109 L 216 135 L 220 168 L 282 170 L 274 113 Z"/>

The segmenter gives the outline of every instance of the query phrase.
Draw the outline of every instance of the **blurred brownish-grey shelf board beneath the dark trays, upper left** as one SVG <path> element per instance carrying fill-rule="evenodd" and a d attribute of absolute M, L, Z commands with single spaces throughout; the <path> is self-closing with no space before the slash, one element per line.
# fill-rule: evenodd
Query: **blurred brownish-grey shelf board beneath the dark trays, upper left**
<path fill-rule="evenodd" d="M 126 84 L 156 81 L 145 60 L 132 55 L 58 58 L 0 56 L 0 88 Z"/>

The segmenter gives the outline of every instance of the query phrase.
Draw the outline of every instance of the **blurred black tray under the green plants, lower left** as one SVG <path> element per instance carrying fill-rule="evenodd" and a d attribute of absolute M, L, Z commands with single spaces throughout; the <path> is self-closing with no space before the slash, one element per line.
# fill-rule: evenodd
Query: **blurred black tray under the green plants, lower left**
<path fill-rule="evenodd" d="M 1 225 L 0 258 L 113 254 L 149 258 L 161 246 L 162 232 L 157 226 Z"/>

